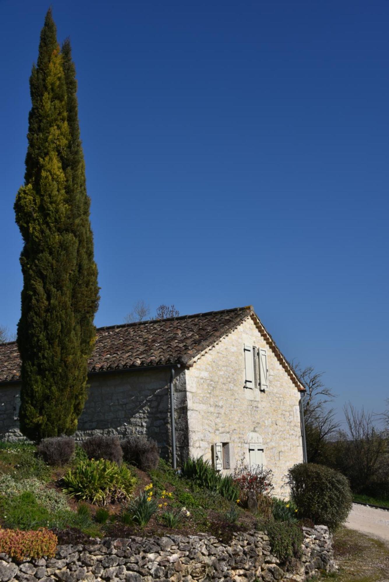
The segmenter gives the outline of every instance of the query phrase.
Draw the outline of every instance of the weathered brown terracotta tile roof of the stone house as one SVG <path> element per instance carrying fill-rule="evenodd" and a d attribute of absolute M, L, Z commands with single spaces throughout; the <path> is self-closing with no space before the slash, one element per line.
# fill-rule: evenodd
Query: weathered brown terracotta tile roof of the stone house
<path fill-rule="evenodd" d="M 89 372 L 170 364 L 191 365 L 196 356 L 238 327 L 247 317 L 252 317 L 293 383 L 302 389 L 252 306 L 98 328 Z M 0 383 L 15 381 L 19 377 L 20 357 L 16 342 L 0 345 Z"/>

